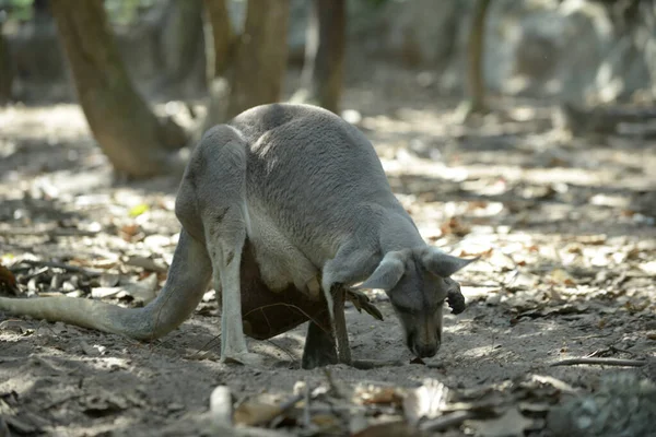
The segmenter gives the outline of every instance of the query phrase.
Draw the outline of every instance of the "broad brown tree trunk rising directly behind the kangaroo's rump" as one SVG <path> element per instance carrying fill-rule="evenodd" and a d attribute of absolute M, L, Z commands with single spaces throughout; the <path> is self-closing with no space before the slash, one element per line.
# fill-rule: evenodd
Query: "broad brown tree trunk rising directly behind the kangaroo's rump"
<path fill-rule="evenodd" d="M 249 0 L 230 79 L 227 117 L 280 99 L 290 0 Z"/>

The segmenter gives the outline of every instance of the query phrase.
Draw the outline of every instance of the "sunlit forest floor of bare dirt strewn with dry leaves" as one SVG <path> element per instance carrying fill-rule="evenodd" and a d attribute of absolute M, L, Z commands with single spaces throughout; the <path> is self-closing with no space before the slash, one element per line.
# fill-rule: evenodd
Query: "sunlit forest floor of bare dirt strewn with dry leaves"
<path fill-rule="evenodd" d="M 553 106 L 523 99 L 495 99 L 466 127 L 456 101 L 420 82 L 376 73 L 343 107 L 426 240 L 482 257 L 455 277 L 468 309 L 445 310 L 434 358 L 410 364 L 380 294 L 384 321 L 348 308 L 354 357 L 401 362 L 370 370 L 300 369 L 305 324 L 251 342 L 267 369 L 221 364 L 212 292 L 153 343 L 0 315 L 0 417 L 12 435 L 209 435 L 210 395 L 227 386 L 235 421 L 266 424 L 242 435 L 409 436 L 425 415 L 435 435 L 546 436 L 558 434 L 559 405 L 608 376 L 656 381 L 656 141 L 572 139 L 553 127 Z M 0 130 L 0 264 L 21 293 L 151 299 L 179 232 L 177 182 L 114 184 L 77 105 L 10 107 Z M 601 365 L 552 366 L 579 357 Z M 295 389 L 306 401 L 272 412 Z"/>

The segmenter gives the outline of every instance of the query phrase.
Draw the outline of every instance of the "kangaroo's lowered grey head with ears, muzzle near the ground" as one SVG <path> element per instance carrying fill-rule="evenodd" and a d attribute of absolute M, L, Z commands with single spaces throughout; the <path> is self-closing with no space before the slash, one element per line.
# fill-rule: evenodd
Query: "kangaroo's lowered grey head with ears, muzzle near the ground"
<path fill-rule="evenodd" d="M 466 260 L 422 247 L 385 255 L 374 273 L 356 288 L 384 290 L 406 333 L 408 349 L 431 357 L 442 343 L 442 308 L 465 309 L 459 284 L 449 276 L 476 259 Z"/>

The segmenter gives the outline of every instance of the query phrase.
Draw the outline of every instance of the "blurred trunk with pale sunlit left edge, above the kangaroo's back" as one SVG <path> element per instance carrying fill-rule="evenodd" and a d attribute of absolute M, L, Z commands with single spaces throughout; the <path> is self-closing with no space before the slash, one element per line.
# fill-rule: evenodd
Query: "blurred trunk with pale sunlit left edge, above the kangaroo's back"
<path fill-rule="evenodd" d="M 338 113 L 345 38 L 345 0 L 313 0 L 307 23 L 303 88 L 293 99 Z"/>

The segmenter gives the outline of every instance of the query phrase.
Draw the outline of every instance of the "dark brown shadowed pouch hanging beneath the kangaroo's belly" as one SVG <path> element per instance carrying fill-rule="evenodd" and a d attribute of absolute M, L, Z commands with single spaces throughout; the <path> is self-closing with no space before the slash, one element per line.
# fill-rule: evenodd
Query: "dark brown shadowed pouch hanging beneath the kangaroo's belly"
<path fill-rule="evenodd" d="M 242 251 L 239 275 L 242 320 L 246 335 L 256 340 L 268 340 L 311 319 L 329 330 L 329 324 L 325 322 L 328 316 L 326 300 L 313 300 L 293 285 L 281 292 L 272 292 L 263 283 L 253 245 L 248 239 Z"/>

